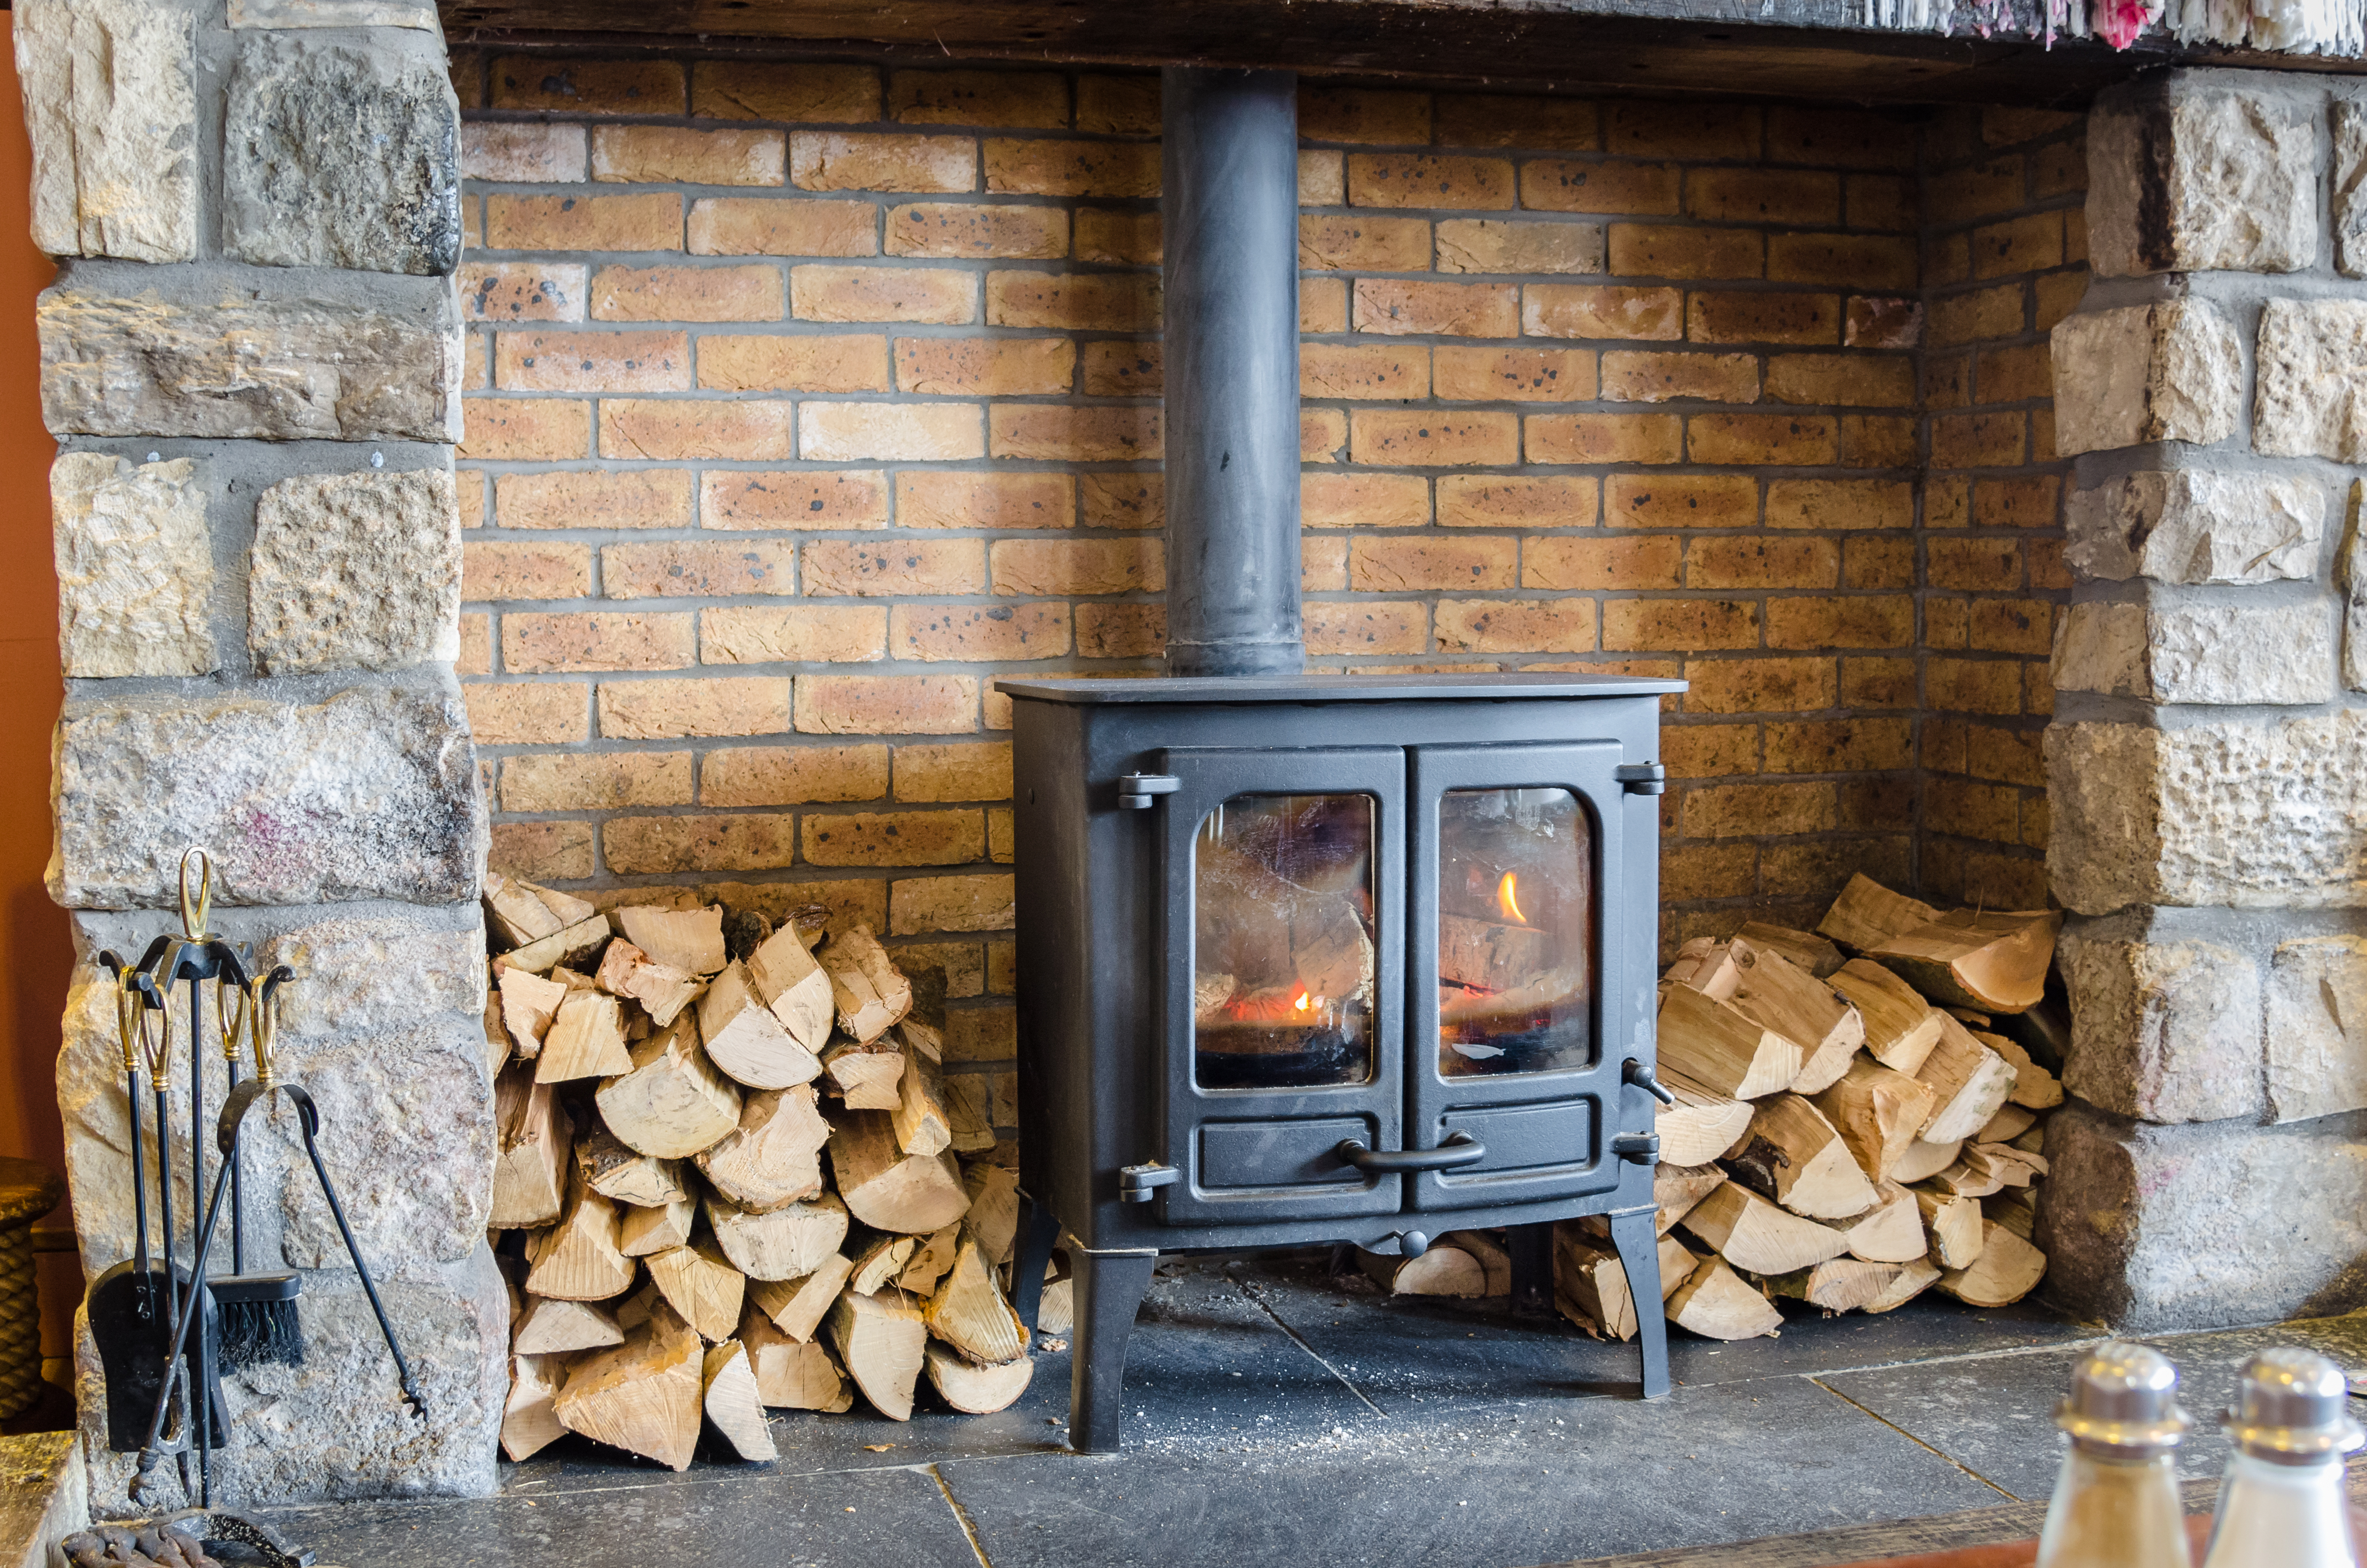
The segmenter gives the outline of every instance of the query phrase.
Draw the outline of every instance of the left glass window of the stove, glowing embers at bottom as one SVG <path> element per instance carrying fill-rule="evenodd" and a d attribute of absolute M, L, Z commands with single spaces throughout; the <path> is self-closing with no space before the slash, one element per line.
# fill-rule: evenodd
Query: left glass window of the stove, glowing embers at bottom
<path fill-rule="evenodd" d="M 1373 796 L 1233 796 L 1193 838 L 1205 1090 L 1373 1078 Z"/>

